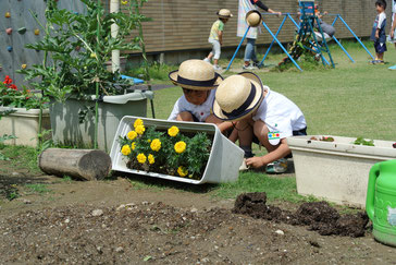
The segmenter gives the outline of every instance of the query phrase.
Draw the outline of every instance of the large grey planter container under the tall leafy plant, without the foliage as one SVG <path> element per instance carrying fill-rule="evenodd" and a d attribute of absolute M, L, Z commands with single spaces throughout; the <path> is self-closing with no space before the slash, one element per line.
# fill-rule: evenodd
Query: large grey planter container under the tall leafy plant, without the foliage
<path fill-rule="evenodd" d="M 146 117 L 147 98 L 152 98 L 150 91 L 135 91 L 119 96 L 104 96 L 99 103 L 98 147 L 110 150 L 116 128 L 124 116 Z M 95 96 L 92 97 L 95 98 Z M 65 103 L 51 101 L 50 118 L 52 138 L 65 145 L 92 147 L 95 137 L 95 112 L 88 112 L 79 123 L 79 112 L 86 107 L 95 107 L 94 100 L 70 98 Z"/>

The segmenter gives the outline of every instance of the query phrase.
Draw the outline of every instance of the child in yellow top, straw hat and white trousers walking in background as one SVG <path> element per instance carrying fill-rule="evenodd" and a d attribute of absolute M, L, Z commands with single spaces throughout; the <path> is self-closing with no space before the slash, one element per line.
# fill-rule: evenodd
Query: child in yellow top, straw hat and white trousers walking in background
<path fill-rule="evenodd" d="M 219 67 L 219 59 L 221 55 L 221 46 L 223 45 L 224 24 L 227 23 L 228 19 L 232 17 L 233 14 L 227 9 L 222 9 L 216 14 L 219 20 L 212 24 L 208 39 L 208 41 L 213 46 L 213 49 L 209 56 L 203 59 L 203 61 L 210 62 L 213 58 L 213 69 L 222 70 L 222 68 Z"/>

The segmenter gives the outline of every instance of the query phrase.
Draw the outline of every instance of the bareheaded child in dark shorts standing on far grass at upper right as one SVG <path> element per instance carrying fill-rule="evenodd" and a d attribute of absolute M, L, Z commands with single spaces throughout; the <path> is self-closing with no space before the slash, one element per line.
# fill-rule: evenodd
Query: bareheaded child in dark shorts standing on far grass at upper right
<path fill-rule="evenodd" d="M 385 0 L 376 0 L 375 2 L 376 9 L 376 17 L 374 21 L 373 29 L 371 33 L 371 40 L 374 40 L 374 48 L 376 58 L 371 63 L 373 64 L 383 64 L 384 63 L 384 52 L 386 51 L 386 35 L 385 35 L 385 26 L 386 26 L 386 2 Z"/>

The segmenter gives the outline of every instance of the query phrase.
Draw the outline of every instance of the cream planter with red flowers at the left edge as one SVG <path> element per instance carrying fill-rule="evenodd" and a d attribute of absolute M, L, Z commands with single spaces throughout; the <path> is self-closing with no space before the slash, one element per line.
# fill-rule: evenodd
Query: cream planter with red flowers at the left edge
<path fill-rule="evenodd" d="M 18 91 L 12 79 L 5 75 L 0 83 L 0 116 L 3 116 L 0 120 L 0 135 L 15 137 L 4 143 L 37 146 L 41 125 L 44 130 L 50 129 L 48 108 L 45 108 L 40 121 L 40 106 L 44 100 L 26 88 Z"/>

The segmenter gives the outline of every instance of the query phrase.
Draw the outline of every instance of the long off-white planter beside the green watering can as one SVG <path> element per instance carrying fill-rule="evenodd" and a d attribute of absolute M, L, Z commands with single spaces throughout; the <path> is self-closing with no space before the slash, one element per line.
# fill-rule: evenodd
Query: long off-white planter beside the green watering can
<path fill-rule="evenodd" d="M 354 145 L 356 138 L 351 137 L 332 136 L 334 142 L 312 141 L 311 137 L 287 138 L 296 169 L 297 192 L 363 208 L 370 168 L 375 162 L 396 159 L 394 142 L 375 140 L 375 146 L 363 146 Z"/>

